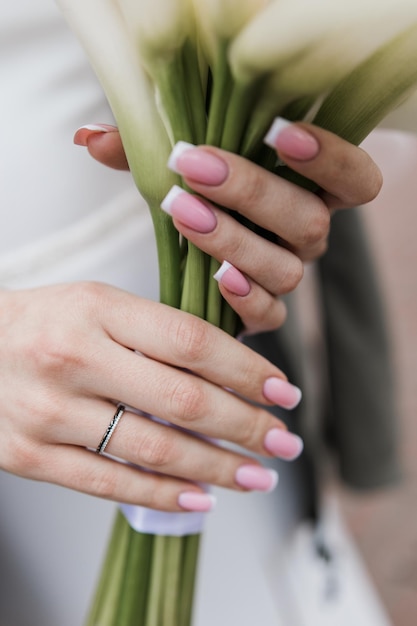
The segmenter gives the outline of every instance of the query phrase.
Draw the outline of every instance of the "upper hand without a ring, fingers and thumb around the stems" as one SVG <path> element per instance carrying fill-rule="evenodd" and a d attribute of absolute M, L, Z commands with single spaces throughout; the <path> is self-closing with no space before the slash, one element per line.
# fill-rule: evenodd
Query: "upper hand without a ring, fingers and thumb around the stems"
<path fill-rule="evenodd" d="M 170 166 L 193 195 L 183 192 L 166 207 L 178 231 L 196 246 L 227 261 L 219 288 L 247 332 L 279 327 L 286 309 L 279 296 L 295 289 L 303 263 L 327 247 L 331 214 L 370 202 L 382 175 L 370 156 L 336 135 L 305 123 L 279 123 L 268 143 L 282 163 L 317 183 L 315 194 L 235 154 L 212 146 L 174 149 Z M 75 143 L 117 169 L 128 167 L 113 126 L 79 129 Z M 255 234 L 219 207 L 226 207 L 275 234 L 282 245 Z M 197 216 L 197 217 L 196 217 Z"/>

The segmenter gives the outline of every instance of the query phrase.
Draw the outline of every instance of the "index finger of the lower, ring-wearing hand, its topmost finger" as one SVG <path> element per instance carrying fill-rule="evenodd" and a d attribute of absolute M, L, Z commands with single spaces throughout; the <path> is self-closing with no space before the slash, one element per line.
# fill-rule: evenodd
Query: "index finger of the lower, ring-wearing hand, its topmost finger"
<path fill-rule="evenodd" d="M 277 404 L 283 396 L 286 404 L 299 400 L 300 391 L 278 367 L 212 324 L 117 289 L 107 289 L 102 297 L 101 324 L 118 344 L 254 402 Z"/>

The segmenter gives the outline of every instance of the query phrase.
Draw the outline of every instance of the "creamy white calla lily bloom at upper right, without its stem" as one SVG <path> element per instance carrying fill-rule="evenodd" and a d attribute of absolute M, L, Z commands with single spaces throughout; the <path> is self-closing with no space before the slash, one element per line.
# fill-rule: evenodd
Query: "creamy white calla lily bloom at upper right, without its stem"
<path fill-rule="evenodd" d="M 290 75 L 300 62 L 306 66 L 302 75 L 308 82 L 311 67 L 312 80 L 316 75 L 323 80 L 320 72 L 325 76 L 326 68 L 333 75 L 335 68 L 343 72 L 354 67 L 416 19 L 415 0 L 277 0 L 233 42 L 232 74 L 238 81 L 251 82 L 280 68 Z M 319 68 L 313 65 L 314 58 L 316 63 L 323 61 Z"/>

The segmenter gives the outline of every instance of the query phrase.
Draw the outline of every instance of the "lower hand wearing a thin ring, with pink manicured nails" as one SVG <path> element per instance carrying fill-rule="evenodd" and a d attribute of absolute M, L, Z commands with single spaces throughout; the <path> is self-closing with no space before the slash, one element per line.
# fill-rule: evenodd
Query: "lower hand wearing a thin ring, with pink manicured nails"
<path fill-rule="evenodd" d="M 268 490 L 273 476 L 244 450 L 204 438 L 266 457 L 301 451 L 253 404 L 294 406 L 300 394 L 284 374 L 165 305 L 98 283 L 3 291 L 0 346 L 0 467 L 20 476 L 155 509 L 208 510 L 199 483 Z M 119 402 L 180 427 L 125 412 L 106 452 L 151 472 L 93 452 Z"/>

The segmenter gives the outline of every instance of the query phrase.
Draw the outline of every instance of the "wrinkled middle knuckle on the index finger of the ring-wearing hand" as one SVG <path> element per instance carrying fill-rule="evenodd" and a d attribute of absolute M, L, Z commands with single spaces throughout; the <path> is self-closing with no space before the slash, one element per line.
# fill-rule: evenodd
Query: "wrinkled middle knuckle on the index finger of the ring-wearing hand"
<path fill-rule="evenodd" d="M 191 365 L 206 359 L 211 352 L 208 325 L 197 317 L 187 315 L 175 322 L 173 332 L 167 336 L 172 352 L 183 365 Z"/>

